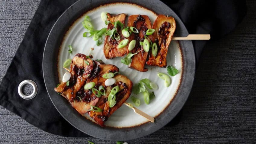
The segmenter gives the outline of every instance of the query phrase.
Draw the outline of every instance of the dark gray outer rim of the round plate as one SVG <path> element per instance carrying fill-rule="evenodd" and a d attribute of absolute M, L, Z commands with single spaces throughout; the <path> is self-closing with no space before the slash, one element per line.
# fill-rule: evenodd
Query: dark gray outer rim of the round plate
<path fill-rule="evenodd" d="M 121 2 L 121 3 L 132 3 L 132 4 L 136 4 L 136 5 L 139 5 L 139 6 L 141 6 L 141 7 L 144 7 L 144 8 L 147 8 L 147 9 L 149 9 L 149 10 L 151 10 L 151 11 L 153 11 L 153 12 L 155 12 L 154 10 L 152 10 L 151 8 L 149 8 L 149 7 L 147 7 L 147 6 L 145 6 L 145 5 L 143 5 L 143 1 L 145 1 L 145 0 L 142 0 L 142 1 L 135 1 L 135 0 L 124 0 L 124 1 L 120 1 L 120 0 L 115 0 L 115 1 L 110 1 L 110 0 L 107 0 L 107 1 L 104 1 L 104 0 L 94 0 L 94 2 L 96 2 L 96 3 L 100 3 L 98 6 L 100 6 L 100 5 L 104 5 L 104 4 L 109 4 L 109 3 L 116 3 L 116 2 Z M 189 96 L 189 93 L 190 93 L 190 91 L 191 91 L 191 89 L 192 89 L 192 85 L 193 85 L 193 82 L 194 82 L 194 75 L 195 75 L 195 53 L 194 53 L 194 46 L 193 46 L 193 44 L 192 44 L 192 42 L 191 41 L 187 41 L 188 43 L 190 43 L 189 45 L 189 47 L 191 48 L 191 46 L 192 46 L 192 48 L 193 48 L 193 50 L 191 51 L 191 50 L 185 50 L 184 52 L 183 52 L 183 47 L 184 46 L 181 46 L 181 52 L 182 52 L 182 61 L 183 61 L 183 72 L 182 72 L 182 76 L 181 76 L 181 82 L 180 82 L 180 86 L 178 87 L 178 90 L 177 90 L 177 92 L 176 92 L 176 94 L 174 95 L 174 98 L 173 98 L 173 100 L 169 103 L 169 105 L 161 112 L 161 114 L 159 114 L 156 118 L 155 118 L 155 121 L 157 122 L 158 120 L 160 120 L 160 117 L 172 117 L 172 118 L 170 118 L 169 120 L 167 120 L 167 122 L 166 121 L 164 121 L 163 119 L 162 119 L 162 123 L 161 123 L 161 120 L 160 120 L 160 122 L 158 122 L 158 124 L 156 124 L 156 123 L 144 123 L 144 124 L 142 124 L 142 125 L 140 125 L 140 126 L 135 126 L 135 127 L 130 127 L 130 128 L 112 128 L 112 127 L 106 127 L 106 128 L 101 128 L 101 127 L 99 127 L 99 126 L 95 126 L 95 124 L 93 123 L 93 125 L 91 125 L 91 123 L 92 122 L 88 122 L 88 123 L 86 123 L 86 125 L 88 125 L 88 127 L 90 127 L 90 129 L 89 130 L 95 130 L 95 131 L 98 131 L 99 133 L 101 133 L 101 134 L 99 134 L 99 133 L 89 133 L 88 131 L 85 131 L 84 129 L 82 129 L 82 128 L 79 128 L 78 127 L 78 125 L 77 124 L 75 124 L 75 123 L 73 123 L 73 121 L 70 121 L 70 119 L 71 119 L 71 117 L 70 116 L 76 116 L 76 115 L 78 115 L 78 113 L 73 109 L 73 110 L 71 110 L 71 111 L 75 111 L 76 113 L 71 113 L 70 114 L 70 116 L 69 115 L 66 115 L 65 113 L 63 113 L 63 111 L 61 110 L 61 109 L 59 109 L 59 107 L 57 106 L 57 104 L 55 103 L 56 101 L 54 101 L 53 100 L 53 98 L 52 98 L 52 95 L 57 95 L 56 94 L 56 92 L 55 92 L 55 94 L 53 94 L 52 93 L 52 91 L 50 91 L 50 90 L 48 90 L 48 81 L 49 81 L 49 78 L 47 78 L 46 77 L 46 73 L 48 73 L 49 74 L 49 71 L 47 71 L 46 69 L 49 67 L 49 65 L 47 66 L 47 59 L 46 59 L 46 53 L 48 53 L 47 52 L 47 47 L 49 47 L 49 45 L 51 46 L 51 44 L 53 44 L 54 42 L 52 41 L 52 39 L 50 39 L 51 38 L 51 36 L 52 35 L 56 35 L 56 33 L 54 33 L 54 30 L 55 30 L 55 28 L 56 28 L 56 25 L 58 25 L 59 24 L 59 22 L 60 22 L 60 20 L 61 19 L 63 19 L 64 17 L 65 17 L 65 14 L 67 14 L 67 13 L 69 13 L 70 11 L 71 12 L 73 12 L 73 13 L 80 13 L 80 12 L 75 12 L 75 10 L 72 10 L 72 8 L 73 7 L 75 7 L 75 6 L 77 6 L 77 5 L 79 5 L 79 3 L 83 3 L 83 2 L 86 2 L 86 0 L 78 0 L 77 2 L 75 2 L 74 4 L 72 4 L 68 9 L 66 9 L 66 11 L 64 11 L 63 13 L 62 13 L 62 15 L 58 18 L 58 20 L 55 22 L 55 24 L 53 25 L 53 27 L 52 27 L 52 29 L 51 29 L 51 31 L 50 31 L 50 33 L 49 33 L 49 35 L 48 35 L 48 37 L 47 37 L 47 40 L 46 40 L 46 44 L 45 44 L 45 48 L 44 48 L 44 52 L 43 52 L 43 78 L 44 78 L 44 83 L 45 83 L 45 86 L 46 86 L 46 90 L 47 90 L 47 93 L 48 93 L 48 95 L 49 95 L 49 97 L 50 97 L 50 99 L 51 99 L 51 101 L 52 101 L 52 103 L 53 103 L 53 105 L 55 106 L 55 108 L 58 110 L 58 112 L 62 115 L 62 117 L 65 119 L 65 120 L 67 120 L 72 126 L 74 126 L 75 128 L 77 128 L 78 130 L 80 130 L 80 131 L 82 131 L 82 132 L 84 132 L 84 133 L 86 133 L 86 134 L 88 134 L 88 135 L 90 135 L 90 136 L 94 136 L 94 137 L 97 137 L 97 138 L 100 138 L 100 139 L 107 139 L 107 140 L 130 140 L 130 139 L 136 139 L 136 138 L 140 138 L 140 137 L 142 137 L 142 136 L 146 136 L 146 135 L 149 135 L 149 134 L 151 134 L 151 133 L 153 133 L 153 132 L 155 132 L 155 131 L 157 131 L 157 130 L 159 130 L 159 129 L 161 129 L 163 126 L 165 126 L 167 123 L 169 123 L 177 114 L 178 114 L 178 112 L 181 110 L 181 108 L 184 106 L 184 104 L 185 104 L 185 102 L 186 102 L 186 100 L 187 100 L 187 98 L 188 98 L 188 96 Z M 172 11 L 171 10 L 171 8 L 169 8 L 167 5 L 165 5 L 163 2 L 161 2 L 161 1 L 154 1 L 154 0 L 149 0 L 149 1 L 146 1 L 147 2 L 147 4 L 149 4 L 149 3 L 158 3 L 158 5 L 159 5 L 159 3 L 161 4 L 161 5 L 163 5 L 163 6 L 165 6 L 165 8 L 167 7 L 167 9 L 169 9 L 174 15 L 172 15 L 173 17 L 176 17 L 176 18 L 178 18 L 178 19 L 176 19 L 175 18 L 175 20 L 177 21 L 179 21 L 179 24 L 182 26 L 182 27 L 185 27 L 184 26 L 184 24 L 183 24 L 183 22 L 181 21 L 181 19 L 177 16 L 177 14 L 175 14 L 175 12 L 174 11 Z M 91 4 L 91 5 L 94 5 L 94 4 Z M 91 8 L 91 9 L 94 9 L 94 8 L 97 8 L 98 6 L 94 6 L 93 8 Z M 81 6 L 82 7 L 82 6 Z M 84 7 L 86 7 L 86 6 L 84 6 Z M 83 9 L 83 8 L 81 8 L 81 9 Z M 91 9 L 87 9 L 86 11 L 89 11 L 89 10 L 91 10 Z M 77 15 L 77 18 L 78 17 L 80 17 L 80 15 L 82 15 L 82 14 L 84 14 L 86 11 L 83 11 L 82 13 L 80 13 L 80 14 L 76 14 Z M 72 19 L 77 19 L 77 18 L 72 18 Z M 65 19 L 65 18 L 64 18 Z M 70 25 L 70 24 L 69 24 Z M 64 28 L 62 28 L 62 29 L 64 29 Z M 185 33 L 185 34 L 188 34 L 188 32 L 187 32 L 187 29 L 186 29 L 186 27 L 185 27 L 185 29 L 182 29 L 181 31 L 183 31 L 182 33 Z M 58 41 L 58 40 L 56 40 L 56 41 Z M 59 48 L 59 47 L 58 47 Z M 192 58 L 192 59 L 190 59 L 190 61 L 185 61 L 185 60 L 187 60 L 187 59 L 185 59 L 184 58 L 184 55 L 187 55 L 187 54 L 189 54 L 190 55 L 190 58 Z M 192 56 L 192 57 L 191 57 Z M 58 57 L 58 56 L 57 56 Z M 48 59 L 48 61 L 49 61 L 49 59 Z M 187 63 L 189 63 L 189 65 L 187 65 Z M 180 99 L 178 99 L 179 101 L 178 101 L 178 103 L 179 103 L 179 105 L 178 106 L 176 106 L 178 103 L 176 103 L 176 105 L 175 105 L 175 107 L 174 107 L 174 111 L 172 111 L 172 112 L 174 112 L 174 113 L 172 113 L 171 115 L 169 115 L 170 113 L 168 113 L 167 112 L 167 110 L 168 109 L 170 109 L 170 105 L 171 104 L 173 104 L 173 102 L 175 102 L 175 101 L 177 101 L 177 95 L 180 93 L 180 92 L 182 92 L 181 91 L 181 86 L 182 86 L 182 84 L 184 84 L 184 79 L 187 79 L 187 77 L 185 77 L 184 78 L 184 76 L 185 76 L 185 74 L 188 74 L 188 73 L 186 73 L 187 71 L 186 71 L 186 66 L 188 66 L 189 68 L 190 68 L 190 73 L 189 73 L 189 76 L 190 76 L 190 79 L 189 79 L 189 81 L 185 81 L 185 83 L 187 83 L 187 82 L 189 82 L 191 85 L 186 85 L 186 89 L 187 89 L 187 91 L 185 91 L 185 95 L 183 95 L 182 96 L 182 99 L 180 100 Z M 184 70 L 185 69 L 185 70 Z M 55 76 L 55 77 L 58 77 L 58 76 Z M 55 78 L 56 79 L 56 78 Z M 59 79 L 59 78 L 58 78 Z M 52 87 L 49 87 L 49 89 L 50 88 L 52 88 Z M 53 88 L 52 88 L 53 89 Z M 184 91 L 183 91 L 184 92 Z M 62 97 L 61 97 L 62 98 Z M 62 98 L 63 99 L 63 98 Z M 65 99 L 66 100 L 66 99 Z M 80 114 L 79 114 L 80 115 Z M 81 116 L 81 115 L 80 115 Z M 82 116 L 81 116 L 82 117 Z M 83 117 L 84 118 L 84 117 Z M 84 118 L 85 119 L 85 118 Z M 87 119 L 85 119 L 85 120 L 87 120 Z M 88 121 L 88 120 L 87 120 Z M 142 128 L 143 127 L 143 128 Z M 141 131 L 140 131 L 140 133 L 138 133 L 138 131 L 139 130 L 135 130 L 135 128 L 136 129 L 141 129 Z M 146 130 L 147 131 L 145 131 L 145 128 L 146 128 Z M 143 130 L 144 129 L 144 130 Z M 150 129 L 150 130 L 148 130 L 148 129 Z M 135 133 L 133 133 L 133 134 L 130 134 L 130 131 L 131 130 L 133 130 L 133 131 L 136 131 Z M 103 133 L 102 133 L 103 132 Z M 104 136 L 104 133 L 106 133 L 106 132 L 111 132 L 111 133 L 116 133 L 117 135 L 116 136 L 113 136 L 113 135 L 111 135 L 111 136 Z M 143 133 L 141 133 L 141 132 L 143 132 Z M 120 137 L 120 135 L 121 135 L 121 137 Z M 126 137 L 122 137 L 122 136 L 126 136 Z M 128 137 L 127 137 L 128 136 Z"/>

